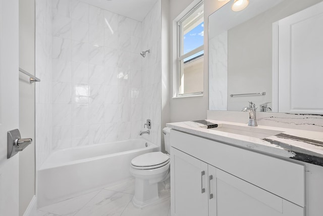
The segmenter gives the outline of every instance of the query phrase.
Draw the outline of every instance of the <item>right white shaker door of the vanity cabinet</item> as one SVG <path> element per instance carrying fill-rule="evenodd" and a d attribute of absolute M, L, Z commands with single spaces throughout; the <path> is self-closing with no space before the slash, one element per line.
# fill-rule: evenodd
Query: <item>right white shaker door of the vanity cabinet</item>
<path fill-rule="evenodd" d="M 209 174 L 211 173 L 216 176 L 210 182 L 211 190 L 212 187 L 216 188 L 216 197 L 209 200 L 210 216 L 304 215 L 302 207 L 242 179 L 214 167 L 209 168 Z"/>

